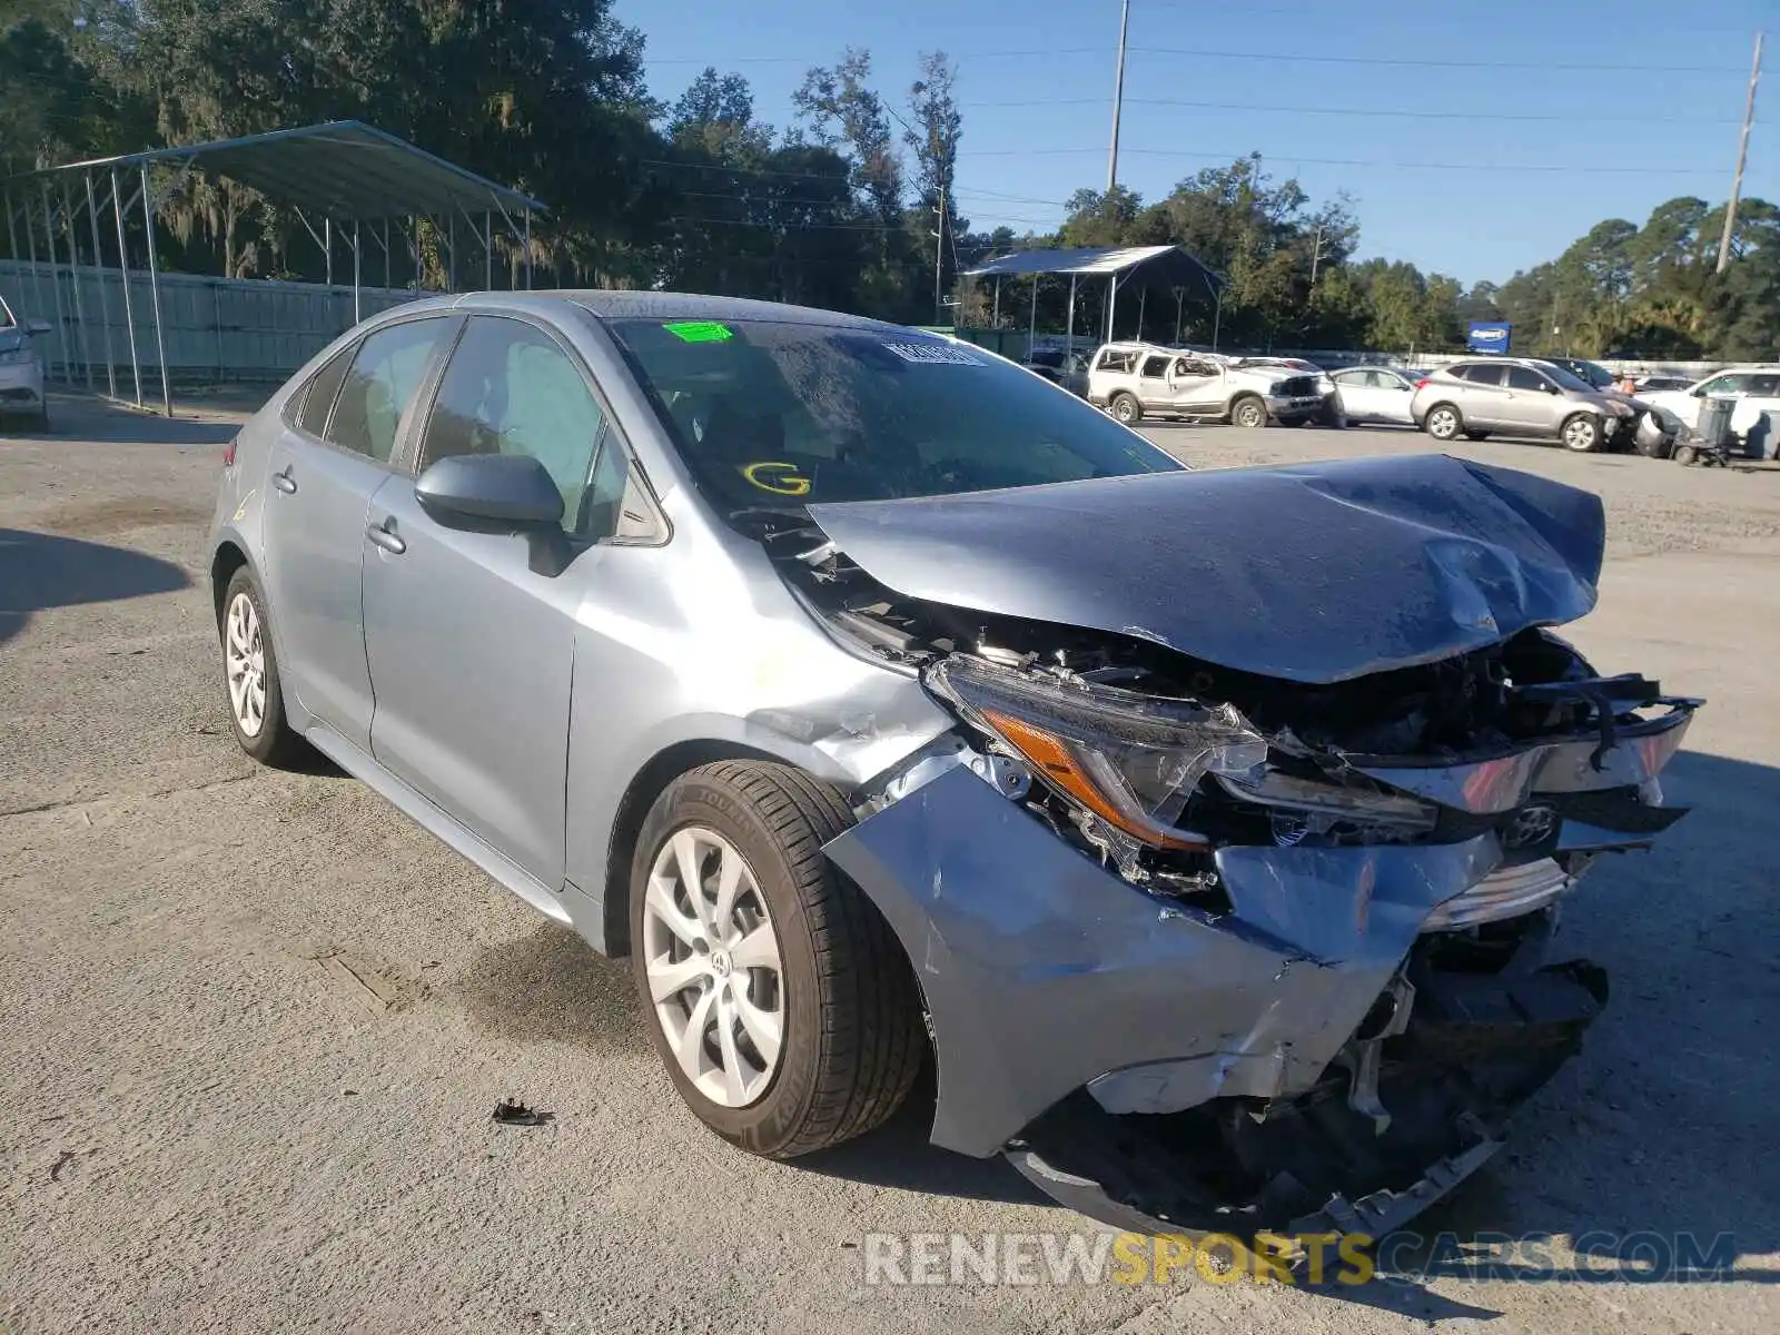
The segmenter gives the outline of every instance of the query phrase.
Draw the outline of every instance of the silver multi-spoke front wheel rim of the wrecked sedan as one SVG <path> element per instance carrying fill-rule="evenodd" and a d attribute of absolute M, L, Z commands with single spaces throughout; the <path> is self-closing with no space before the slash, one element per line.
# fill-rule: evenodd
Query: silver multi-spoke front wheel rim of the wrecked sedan
<path fill-rule="evenodd" d="M 685 1079 L 721 1107 L 762 1098 L 785 1045 L 785 970 L 753 869 L 717 831 L 682 826 L 655 854 L 643 951 Z"/>

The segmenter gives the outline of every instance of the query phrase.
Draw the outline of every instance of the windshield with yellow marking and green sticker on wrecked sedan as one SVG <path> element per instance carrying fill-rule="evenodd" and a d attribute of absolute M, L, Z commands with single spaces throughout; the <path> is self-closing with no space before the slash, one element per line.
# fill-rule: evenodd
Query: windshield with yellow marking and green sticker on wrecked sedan
<path fill-rule="evenodd" d="M 728 511 L 1182 468 L 981 349 L 794 320 L 607 326 L 700 490 Z"/>

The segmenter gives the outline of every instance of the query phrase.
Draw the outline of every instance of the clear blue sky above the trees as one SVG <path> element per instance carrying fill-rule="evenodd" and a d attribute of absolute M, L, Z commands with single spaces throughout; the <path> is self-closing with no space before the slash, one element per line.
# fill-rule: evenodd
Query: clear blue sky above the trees
<path fill-rule="evenodd" d="M 673 100 L 714 64 L 746 75 L 774 125 L 790 123 L 803 71 L 844 46 L 870 50 L 897 105 L 917 53 L 945 50 L 959 68 L 958 192 L 974 228 L 1050 228 L 1072 190 L 1105 185 L 1118 0 L 616 11 L 648 36 L 657 96 Z M 1312 199 L 1353 198 L 1360 258 L 1501 281 L 1600 219 L 1641 224 L 1679 194 L 1725 199 L 1759 27 L 1766 107 L 1780 100 L 1776 16 L 1776 0 L 1132 0 L 1120 183 L 1157 199 L 1258 151 Z M 1759 101 L 1744 194 L 1780 199 L 1766 121 Z"/>

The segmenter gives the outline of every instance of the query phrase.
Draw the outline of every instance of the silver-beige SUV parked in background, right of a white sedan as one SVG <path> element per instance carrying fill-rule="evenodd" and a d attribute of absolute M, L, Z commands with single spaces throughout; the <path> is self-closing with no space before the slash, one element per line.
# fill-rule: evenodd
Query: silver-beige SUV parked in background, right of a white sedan
<path fill-rule="evenodd" d="M 1638 408 L 1550 361 L 1492 356 L 1433 372 L 1417 386 L 1410 415 L 1442 441 L 1501 433 L 1595 450 L 1629 431 Z"/>

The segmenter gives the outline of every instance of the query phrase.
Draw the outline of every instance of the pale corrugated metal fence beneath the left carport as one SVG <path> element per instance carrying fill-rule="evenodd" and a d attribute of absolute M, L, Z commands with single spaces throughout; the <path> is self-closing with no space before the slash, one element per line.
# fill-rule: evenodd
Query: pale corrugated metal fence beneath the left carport
<path fill-rule="evenodd" d="M 55 379 L 107 392 L 116 377 L 116 393 L 134 397 L 134 328 L 142 392 L 160 393 L 155 306 L 146 272 L 130 274 L 126 306 L 125 279 L 116 269 L 0 260 L 0 295 L 21 320 L 43 320 L 52 328 L 37 345 Z M 431 294 L 360 288 L 360 317 L 418 295 Z M 160 274 L 160 315 L 167 374 L 174 381 L 278 381 L 352 326 L 352 288 Z"/>

